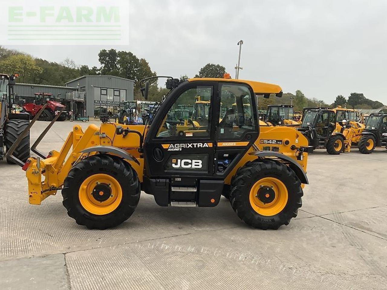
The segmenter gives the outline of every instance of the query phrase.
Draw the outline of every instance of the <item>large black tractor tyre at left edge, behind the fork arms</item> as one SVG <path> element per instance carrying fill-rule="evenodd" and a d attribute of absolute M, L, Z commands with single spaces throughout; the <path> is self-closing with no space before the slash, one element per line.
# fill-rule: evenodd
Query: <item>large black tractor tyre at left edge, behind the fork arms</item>
<path fill-rule="evenodd" d="M 11 148 L 12 144 L 15 143 L 17 137 L 21 135 L 24 129 L 27 128 L 29 121 L 21 119 L 10 119 L 5 124 L 5 147 L 7 151 Z M 26 162 L 30 155 L 30 144 L 29 144 L 29 132 L 21 140 L 19 145 L 16 147 L 14 153 L 12 154 L 16 158 L 20 159 L 22 162 Z M 14 162 L 7 158 L 9 164 L 14 164 Z"/>

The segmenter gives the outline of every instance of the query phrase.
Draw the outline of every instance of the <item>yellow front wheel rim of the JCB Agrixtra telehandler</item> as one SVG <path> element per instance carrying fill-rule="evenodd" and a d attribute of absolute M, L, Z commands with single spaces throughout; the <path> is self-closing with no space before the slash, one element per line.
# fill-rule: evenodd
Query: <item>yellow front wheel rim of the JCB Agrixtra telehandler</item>
<path fill-rule="evenodd" d="M 79 188 L 79 201 L 87 212 L 107 215 L 121 203 L 120 183 L 108 174 L 93 174 L 87 177 Z"/>

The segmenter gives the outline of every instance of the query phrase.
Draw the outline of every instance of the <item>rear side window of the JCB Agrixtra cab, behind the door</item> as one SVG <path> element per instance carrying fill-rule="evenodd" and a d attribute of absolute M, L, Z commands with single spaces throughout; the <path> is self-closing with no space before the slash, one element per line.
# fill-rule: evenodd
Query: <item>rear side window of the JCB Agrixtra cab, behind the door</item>
<path fill-rule="evenodd" d="M 220 84 L 219 90 L 218 140 L 240 140 L 246 131 L 257 130 L 256 116 L 252 111 L 253 98 L 248 86 L 225 83 Z"/>

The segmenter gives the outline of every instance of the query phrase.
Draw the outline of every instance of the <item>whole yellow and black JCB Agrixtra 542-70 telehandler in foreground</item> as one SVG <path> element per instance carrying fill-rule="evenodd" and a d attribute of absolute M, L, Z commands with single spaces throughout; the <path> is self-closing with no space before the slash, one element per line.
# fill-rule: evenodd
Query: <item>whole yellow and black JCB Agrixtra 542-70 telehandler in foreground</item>
<path fill-rule="evenodd" d="M 132 215 L 141 191 L 160 206 L 216 206 L 223 193 L 248 225 L 287 225 L 308 183 L 309 147 L 293 128 L 260 133 L 257 96 L 281 96 L 281 87 L 231 78 L 166 78 L 170 92 L 146 125 L 105 122 L 86 131 L 75 125 L 59 152 L 29 158 L 23 167 L 29 202 L 39 205 L 62 190 L 70 217 L 90 229 L 106 229 Z M 150 79 L 140 82 L 145 99 Z M 197 96 L 209 102 L 208 118 L 181 135 L 168 114 L 194 104 Z M 250 115 L 244 104 L 252 108 Z"/>

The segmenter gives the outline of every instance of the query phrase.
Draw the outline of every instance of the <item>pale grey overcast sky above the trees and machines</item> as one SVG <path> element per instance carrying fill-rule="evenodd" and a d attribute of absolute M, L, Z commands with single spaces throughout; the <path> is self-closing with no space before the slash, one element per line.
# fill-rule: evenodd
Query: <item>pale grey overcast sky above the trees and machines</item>
<path fill-rule="evenodd" d="M 333 102 L 362 92 L 387 104 L 387 1 L 256 0 L 130 1 L 130 45 L 161 75 L 193 77 L 206 63 L 235 76 L 243 39 L 240 78 L 300 89 Z M 33 56 L 99 66 L 111 46 L 6 46 Z"/>

